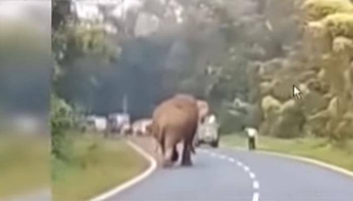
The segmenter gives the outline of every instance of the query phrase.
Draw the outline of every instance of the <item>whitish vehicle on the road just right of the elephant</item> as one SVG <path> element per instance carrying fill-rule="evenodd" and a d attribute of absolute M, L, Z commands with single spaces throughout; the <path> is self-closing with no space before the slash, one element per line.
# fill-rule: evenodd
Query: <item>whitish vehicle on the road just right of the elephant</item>
<path fill-rule="evenodd" d="M 209 144 L 218 147 L 219 125 L 214 115 L 207 116 L 204 123 L 200 124 L 195 136 L 195 145 Z"/>

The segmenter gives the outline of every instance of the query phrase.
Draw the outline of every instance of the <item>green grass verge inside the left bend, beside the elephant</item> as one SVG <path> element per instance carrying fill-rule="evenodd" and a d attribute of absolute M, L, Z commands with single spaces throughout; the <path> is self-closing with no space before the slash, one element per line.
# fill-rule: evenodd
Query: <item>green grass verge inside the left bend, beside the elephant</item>
<path fill-rule="evenodd" d="M 80 136 L 74 141 L 73 155 L 74 162 L 70 164 L 53 160 L 53 200 L 87 200 L 129 180 L 148 166 L 143 157 L 121 140 Z"/>

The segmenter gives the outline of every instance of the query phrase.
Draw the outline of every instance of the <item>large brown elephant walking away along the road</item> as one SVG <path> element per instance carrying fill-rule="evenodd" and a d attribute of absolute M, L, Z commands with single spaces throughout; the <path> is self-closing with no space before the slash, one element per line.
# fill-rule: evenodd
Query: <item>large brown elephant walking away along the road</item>
<path fill-rule="evenodd" d="M 177 94 L 164 100 L 153 112 L 149 133 L 156 139 L 164 157 L 164 166 L 178 160 L 177 144 L 184 142 L 182 165 L 191 166 L 191 152 L 195 153 L 193 139 L 198 127 L 196 99 Z"/>

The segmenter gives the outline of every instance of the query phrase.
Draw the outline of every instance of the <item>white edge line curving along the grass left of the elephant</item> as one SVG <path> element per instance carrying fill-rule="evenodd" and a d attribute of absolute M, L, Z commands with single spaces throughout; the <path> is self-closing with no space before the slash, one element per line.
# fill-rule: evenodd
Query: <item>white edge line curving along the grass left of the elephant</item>
<path fill-rule="evenodd" d="M 130 140 L 128 140 L 127 143 L 128 143 L 128 145 L 130 145 L 133 149 L 135 149 L 138 153 L 140 153 L 144 158 L 146 158 L 149 161 L 149 163 L 150 163 L 149 168 L 146 171 L 142 172 L 141 174 L 137 175 L 136 177 L 126 181 L 125 183 L 123 183 L 119 186 L 116 186 L 116 187 L 94 197 L 90 201 L 100 201 L 100 200 L 107 199 L 108 197 L 111 197 L 112 195 L 115 195 L 115 194 L 131 187 L 132 185 L 140 182 L 141 180 L 145 179 L 156 169 L 157 162 L 150 154 L 148 154 L 146 151 L 141 149 L 139 146 L 137 146 L 135 143 L 131 142 Z"/>

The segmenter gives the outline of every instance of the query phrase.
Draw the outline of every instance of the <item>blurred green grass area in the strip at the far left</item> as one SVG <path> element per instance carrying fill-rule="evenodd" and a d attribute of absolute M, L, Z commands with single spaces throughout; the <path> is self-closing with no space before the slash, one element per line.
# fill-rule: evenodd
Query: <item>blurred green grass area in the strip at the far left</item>
<path fill-rule="evenodd" d="M 50 184 L 49 140 L 0 135 L 0 198 Z"/>

